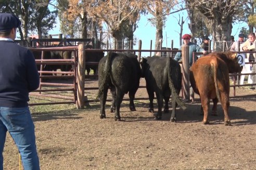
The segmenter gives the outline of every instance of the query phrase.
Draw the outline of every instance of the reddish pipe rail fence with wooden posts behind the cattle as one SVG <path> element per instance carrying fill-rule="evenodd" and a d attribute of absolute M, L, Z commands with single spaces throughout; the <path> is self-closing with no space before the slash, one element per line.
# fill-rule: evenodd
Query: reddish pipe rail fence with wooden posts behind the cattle
<path fill-rule="evenodd" d="M 85 65 L 97 65 L 98 62 L 86 62 L 86 59 L 84 59 L 84 51 L 104 51 L 104 52 L 108 52 L 108 51 L 115 51 L 115 52 L 123 52 L 123 51 L 130 51 L 133 53 L 136 53 L 138 55 L 138 61 L 140 61 L 141 53 L 142 52 L 160 52 L 160 53 L 164 53 L 164 52 L 170 52 L 170 53 L 176 53 L 176 52 L 183 52 L 182 50 L 170 50 L 170 49 L 162 49 L 162 50 L 142 50 L 142 49 L 138 49 L 138 50 L 111 50 L 111 49 L 85 49 L 84 45 L 79 45 L 79 46 L 67 46 L 67 47 L 51 47 L 51 48 L 29 48 L 31 50 L 34 51 L 74 51 L 74 59 L 71 60 L 46 60 L 44 59 L 44 56 L 42 55 L 42 59 L 41 60 L 36 60 L 37 64 L 40 65 L 45 65 L 45 64 L 71 64 L 74 67 L 73 72 L 50 72 L 50 71 L 44 71 L 43 69 L 39 70 L 39 74 L 40 74 L 40 89 L 36 90 L 35 92 L 31 93 L 31 95 L 38 95 L 38 96 L 52 96 L 52 97 L 56 97 L 56 98 L 61 98 L 61 96 L 58 95 L 50 95 L 50 94 L 42 94 L 42 93 L 46 93 L 46 92 L 57 92 L 57 91 L 68 91 L 68 92 L 72 92 L 72 97 L 63 97 L 63 99 L 66 100 L 70 100 L 70 98 L 72 99 L 72 101 L 62 101 L 62 102 L 47 102 L 47 103 L 30 103 L 29 105 L 47 105 L 47 104 L 68 104 L 68 103 L 73 103 L 76 104 L 76 108 L 84 108 L 85 103 L 88 102 L 92 102 L 92 101 L 96 101 L 96 100 L 89 100 L 87 99 L 84 95 L 86 94 L 87 90 L 97 90 L 97 87 L 84 87 L 85 84 L 85 78 L 88 77 L 96 77 L 97 75 L 85 75 Z M 255 53 L 255 51 L 250 51 L 250 52 L 244 52 L 244 53 Z M 202 53 L 194 53 L 194 55 L 200 55 Z M 184 56 L 185 54 L 183 54 Z M 180 62 L 181 64 L 184 63 Z M 255 62 L 254 62 L 255 63 Z M 246 63 L 248 64 L 248 63 Z M 183 90 L 182 90 L 182 96 L 184 99 L 188 99 L 190 97 L 190 93 L 189 93 L 189 88 L 185 88 L 185 84 L 187 87 L 187 84 L 189 84 L 189 77 L 188 77 L 188 71 L 184 72 L 183 77 L 186 77 L 186 83 L 183 82 Z M 44 75 L 47 74 L 47 75 Z M 61 74 L 61 75 L 57 75 L 57 76 L 52 76 L 50 74 Z M 68 74 L 68 76 L 64 76 L 62 74 Z M 246 73 L 246 74 L 231 74 L 231 76 L 240 76 L 240 75 L 252 75 L 251 73 Z M 60 83 L 60 82 L 44 82 L 44 79 L 62 79 L 62 78 L 66 78 L 69 79 L 71 78 L 73 83 L 72 84 L 66 84 L 66 83 Z M 231 84 L 231 88 L 234 88 L 234 97 L 237 97 L 235 95 L 235 90 L 237 87 L 244 87 L 244 86 L 251 86 L 251 85 L 256 85 L 256 84 L 236 84 L 236 82 L 234 81 L 234 84 Z M 53 89 L 42 89 L 42 87 L 47 87 L 47 86 L 51 86 L 51 87 L 60 87 L 62 86 L 63 89 L 57 89 L 57 88 L 53 88 Z M 145 88 L 145 87 L 139 87 L 139 88 Z M 36 94 L 35 94 L 36 93 Z M 248 96 L 255 96 L 255 95 L 248 95 Z M 231 96 L 232 97 L 232 96 Z M 135 98 L 136 100 L 145 100 L 146 98 L 140 97 L 140 98 Z M 126 99 L 124 99 L 126 100 Z"/>

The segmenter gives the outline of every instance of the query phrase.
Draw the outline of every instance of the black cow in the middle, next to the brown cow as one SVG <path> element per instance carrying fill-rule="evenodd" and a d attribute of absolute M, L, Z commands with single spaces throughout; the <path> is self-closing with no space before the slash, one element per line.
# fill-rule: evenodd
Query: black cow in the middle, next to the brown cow
<path fill-rule="evenodd" d="M 164 112 L 169 112 L 168 102 L 172 94 L 171 121 L 176 121 L 175 111 L 177 104 L 185 109 L 184 103 L 178 98 L 182 88 L 181 66 L 170 57 L 161 58 L 152 56 L 142 60 L 142 77 L 145 77 L 146 88 L 149 96 L 149 111 L 153 112 L 154 92 L 157 96 L 158 112 L 155 119 L 161 119 L 163 99 Z"/>

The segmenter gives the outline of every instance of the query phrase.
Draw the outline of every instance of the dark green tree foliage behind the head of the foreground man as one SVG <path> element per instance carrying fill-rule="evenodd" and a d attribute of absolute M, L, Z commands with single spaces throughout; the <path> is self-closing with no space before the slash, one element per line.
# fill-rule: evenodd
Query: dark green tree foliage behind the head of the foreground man
<path fill-rule="evenodd" d="M 29 1 L 29 0 L 1 0 L 1 12 L 14 13 L 21 20 L 19 27 L 20 38 L 28 37 L 29 32 L 38 32 L 44 35 L 47 30 L 52 29 L 56 23 L 56 11 L 50 12 L 48 9 L 49 0 Z"/>

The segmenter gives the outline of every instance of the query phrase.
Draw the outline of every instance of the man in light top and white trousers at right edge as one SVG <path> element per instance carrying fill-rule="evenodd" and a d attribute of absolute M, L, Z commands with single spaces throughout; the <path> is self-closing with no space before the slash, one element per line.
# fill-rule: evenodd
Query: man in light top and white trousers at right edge
<path fill-rule="evenodd" d="M 249 33 L 248 34 L 248 40 L 245 41 L 244 44 L 242 44 L 241 49 L 244 51 L 254 51 L 255 50 L 255 34 Z M 249 59 L 249 62 L 255 62 L 255 53 L 247 53 L 247 58 Z M 251 63 L 251 73 L 256 73 L 256 64 Z M 251 75 L 252 83 L 256 83 L 256 75 Z M 254 90 L 255 86 L 252 86 L 250 89 Z"/>

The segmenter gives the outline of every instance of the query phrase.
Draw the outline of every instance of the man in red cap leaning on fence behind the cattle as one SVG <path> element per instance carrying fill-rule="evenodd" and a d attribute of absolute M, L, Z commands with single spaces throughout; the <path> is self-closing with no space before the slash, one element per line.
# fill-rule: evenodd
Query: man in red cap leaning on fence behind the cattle
<path fill-rule="evenodd" d="M 190 42 L 191 35 L 184 34 L 182 36 L 182 39 L 183 39 L 184 45 L 188 45 L 188 48 L 189 48 L 189 66 L 191 66 L 193 64 L 193 52 L 202 52 L 203 54 L 207 53 L 206 50 L 202 49 L 197 44 Z M 179 50 L 181 50 L 181 48 L 182 48 L 182 46 L 180 47 Z M 179 61 L 181 58 L 182 58 L 181 52 L 177 52 L 174 57 L 174 60 Z M 194 58 L 194 61 L 196 61 L 196 60 L 197 60 L 197 56 Z"/>

